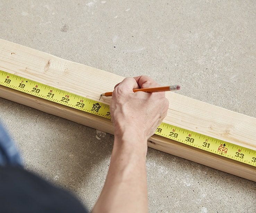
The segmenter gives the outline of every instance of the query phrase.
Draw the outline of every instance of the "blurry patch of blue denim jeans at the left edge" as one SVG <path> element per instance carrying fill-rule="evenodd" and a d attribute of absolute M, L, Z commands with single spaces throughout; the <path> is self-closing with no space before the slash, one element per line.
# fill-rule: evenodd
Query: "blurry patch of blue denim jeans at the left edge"
<path fill-rule="evenodd" d="M 0 123 L 0 166 L 22 166 L 15 143 Z"/>

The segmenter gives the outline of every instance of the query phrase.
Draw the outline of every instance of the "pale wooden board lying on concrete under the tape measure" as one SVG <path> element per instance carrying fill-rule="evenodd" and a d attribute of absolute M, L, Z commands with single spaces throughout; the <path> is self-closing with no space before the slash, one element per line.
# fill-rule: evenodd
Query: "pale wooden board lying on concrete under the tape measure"
<path fill-rule="evenodd" d="M 0 69 L 98 101 L 123 77 L 70 62 L 0 39 Z M 71 109 L 6 87 L 0 97 L 113 134 L 108 119 Z M 256 118 L 167 92 L 170 105 L 164 122 L 256 150 Z M 109 104 L 109 97 L 101 101 Z M 256 168 L 179 142 L 152 136 L 148 146 L 256 181 Z"/>

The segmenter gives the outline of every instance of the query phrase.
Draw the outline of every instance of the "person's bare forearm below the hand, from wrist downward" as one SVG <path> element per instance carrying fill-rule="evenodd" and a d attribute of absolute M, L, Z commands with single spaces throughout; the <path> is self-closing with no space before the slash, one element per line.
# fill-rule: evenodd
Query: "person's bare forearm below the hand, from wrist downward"
<path fill-rule="evenodd" d="M 145 141 L 141 141 L 145 140 Z M 93 212 L 147 212 L 146 139 L 115 135 L 109 172 Z"/>

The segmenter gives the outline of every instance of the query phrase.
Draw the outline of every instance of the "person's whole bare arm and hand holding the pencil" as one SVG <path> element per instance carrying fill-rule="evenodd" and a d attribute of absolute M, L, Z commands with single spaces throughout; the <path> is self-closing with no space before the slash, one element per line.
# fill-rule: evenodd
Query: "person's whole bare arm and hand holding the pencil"
<path fill-rule="evenodd" d="M 164 92 L 133 92 L 159 86 L 147 76 L 125 78 L 113 92 L 114 146 L 109 172 L 93 213 L 147 212 L 147 139 L 167 115 Z"/>

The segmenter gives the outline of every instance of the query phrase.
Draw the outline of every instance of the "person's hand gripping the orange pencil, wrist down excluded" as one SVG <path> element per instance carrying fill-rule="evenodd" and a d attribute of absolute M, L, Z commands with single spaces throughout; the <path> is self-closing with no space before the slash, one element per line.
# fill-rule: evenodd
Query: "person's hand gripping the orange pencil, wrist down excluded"
<path fill-rule="evenodd" d="M 148 76 L 125 78 L 115 86 L 110 113 L 115 135 L 125 132 L 150 138 L 167 115 L 165 92 L 133 92 L 133 89 L 160 86 Z"/>

